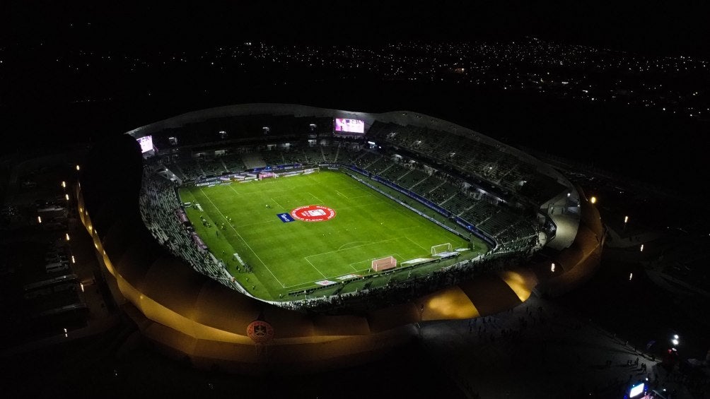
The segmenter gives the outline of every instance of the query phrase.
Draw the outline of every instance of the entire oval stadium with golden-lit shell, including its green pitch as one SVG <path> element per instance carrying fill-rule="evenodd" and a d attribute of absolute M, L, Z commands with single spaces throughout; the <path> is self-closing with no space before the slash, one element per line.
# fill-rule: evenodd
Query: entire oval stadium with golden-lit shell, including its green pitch
<path fill-rule="evenodd" d="M 186 113 L 95 145 L 77 198 L 143 336 L 237 373 L 361 364 L 422 322 L 557 296 L 604 236 L 550 165 L 410 111 Z"/>

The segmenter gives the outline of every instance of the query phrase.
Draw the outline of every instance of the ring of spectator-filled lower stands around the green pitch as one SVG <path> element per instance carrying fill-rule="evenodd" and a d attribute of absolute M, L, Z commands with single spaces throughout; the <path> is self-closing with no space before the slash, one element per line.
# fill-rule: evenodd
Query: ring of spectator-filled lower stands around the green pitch
<path fill-rule="evenodd" d="M 503 259 L 509 257 L 528 256 L 540 243 L 537 241 L 538 227 L 536 223 L 525 217 L 516 208 L 501 206 L 496 201 L 491 201 L 479 191 L 472 189 L 459 176 L 453 176 L 434 169 L 426 164 L 408 159 L 400 155 L 391 154 L 383 150 L 376 150 L 362 142 L 348 140 L 321 141 L 319 145 L 306 142 L 293 142 L 288 146 L 244 146 L 231 147 L 221 152 L 219 157 L 190 157 L 178 162 L 171 162 L 165 166 L 175 172 L 176 176 L 195 181 L 208 175 L 222 174 L 223 172 L 239 172 L 244 170 L 241 155 L 261 156 L 264 164 L 276 166 L 280 164 L 302 163 L 319 164 L 321 162 L 353 165 L 359 169 L 378 175 L 388 181 L 407 189 L 440 208 L 448 210 L 452 215 L 457 215 L 479 230 L 493 237 L 497 246 L 491 249 L 483 259 L 476 261 L 476 267 L 463 263 L 454 268 L 447 269 L 444 273 L 432 274 L 426 278 L 417 278 L 412 281 L 395 283 L 396 279 L 388 283 L 388 289 L 375 297 L 364 296 L 364 292 L 337 295 L 326 299 L 309 299 L 307 303 L 293 301 L 288 306 L 294 308 L 312 308 L 322 305 L 327 307 L 351 308 L 352 306 L 365 306 L 373 301 L 388 303 L 398 300 L 398 292 L 417 291 L 429 292 L 457 281 L 464 274 L 470 276 L 479 271 L 495 269 L 503 264 Z M 169 160 L 165 158 L 163 160 Z M 165 169 L 160 157 L 146 161 L 143 188 L 141 191 L 141 213 L 146 227 L 151 231 L 161 245 L 170 249 L 170 252 L 180 259 L 184 259 L 195 270 L 210 276 L 223 283 L 225 286 L 245 292 L 234 279 L 230 279 L 224 272 L 224 266 L 215 259 L 208 250 L 200 247 L 194 239 L 189 223 L 180 220 L 178 213 L 182 210 L 182 203 L 176 192 L 177 183 L 160 173 Z M 495 262 L 493 262 L 495 260 Z M 479 266 L 479 264 L 481 266 Z M 466 267 L 464 267 L 466 266 Z M 442 285 L 443 284 L 443 285 Z M 367 290 L 366 290 L 367 291 Z M 362 298 L 361 298 L 362 296 Z M 355 303 L 339 303 L 344 298 L 354 298 Z M 315 303 L 314 303 L 315 301 Z M 347 303 L 347 304 L 346 304 Z"/>

